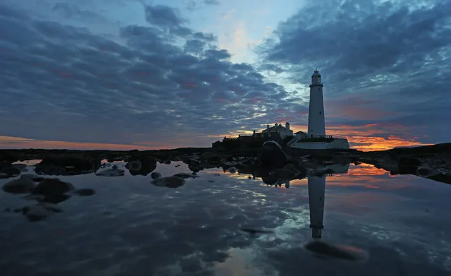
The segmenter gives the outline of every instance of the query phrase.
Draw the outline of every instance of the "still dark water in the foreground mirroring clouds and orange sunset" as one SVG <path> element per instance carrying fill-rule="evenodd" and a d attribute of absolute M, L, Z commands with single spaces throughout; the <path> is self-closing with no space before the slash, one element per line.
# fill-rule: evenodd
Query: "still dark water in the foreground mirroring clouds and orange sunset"
<path fill-rule="evenodd" d="M 190 172 L 182 162 L 156 171 Z M 40 222 L 3 212 L 34 203 L 0 191 L 0 275 L 451 275 L 450 185 L 366 164 L 343 172 L 289 188 L 222 169 L 179 188 L 127 170 L 59 176 L 97 193 L 59 203 L 64 212 Z M 368 258 L 318 258 L 303 248 L 318 235 Z"/>

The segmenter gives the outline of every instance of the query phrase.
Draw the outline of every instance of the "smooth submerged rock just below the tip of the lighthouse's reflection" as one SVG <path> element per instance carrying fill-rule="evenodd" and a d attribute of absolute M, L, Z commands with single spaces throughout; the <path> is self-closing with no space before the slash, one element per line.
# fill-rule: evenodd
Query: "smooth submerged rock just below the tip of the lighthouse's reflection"
<path fill-rule="evenodd" d="M 367 257 L 367 253 L 359 248 L 344 246 L 341 244 L 329 244 L 324 241 L 311 241 L 304 246 L 308 251 L 343 260 L 361 260 Z"/>

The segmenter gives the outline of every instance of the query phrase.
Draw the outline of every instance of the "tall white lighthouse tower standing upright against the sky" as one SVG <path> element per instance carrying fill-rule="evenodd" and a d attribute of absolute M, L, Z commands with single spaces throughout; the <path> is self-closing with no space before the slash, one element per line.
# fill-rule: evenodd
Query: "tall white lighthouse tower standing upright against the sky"
<path fill-rule="evenodd" d="M 325 137 L 323 83 L 321 83 L 321 74 L 318 69 L 313 71 L 310 85 L 307 136 L 308 138 Z"/>

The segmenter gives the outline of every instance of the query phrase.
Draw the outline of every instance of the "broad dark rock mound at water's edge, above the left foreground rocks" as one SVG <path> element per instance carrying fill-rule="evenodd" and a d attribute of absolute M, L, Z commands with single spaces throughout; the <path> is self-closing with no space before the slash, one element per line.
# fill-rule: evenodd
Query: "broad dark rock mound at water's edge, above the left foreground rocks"
<path fill-rule="evenodd" d="M 90 174 L 100 168 L 100 160 L 89 156 L 49 156 L 37 164 L 35 172 L 47 175 Z"/>

